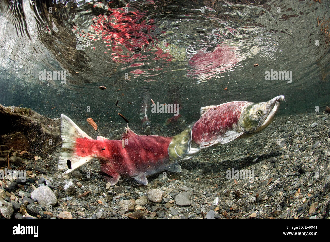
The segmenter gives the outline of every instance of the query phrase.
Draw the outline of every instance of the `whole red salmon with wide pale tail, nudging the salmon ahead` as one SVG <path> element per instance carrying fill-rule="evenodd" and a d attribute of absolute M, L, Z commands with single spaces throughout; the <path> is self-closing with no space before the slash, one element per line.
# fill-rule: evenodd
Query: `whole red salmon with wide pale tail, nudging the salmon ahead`
<path fill-rule="evenodd" d="M 181 172 L 176 160 L 190 150 L 191 126 L 173 137 L 137 135 L 129 128 L 122 140 L 108 140 L 98 136 L 93 140 L 72 120 L 62 114 L 62 152 L 60 170 L 69 173 L 92 158 L 100 159 L 101 171 L 112 185 L 120 175 L 133 177 L 147 185 L 146 176 L 163 170 Z"/>

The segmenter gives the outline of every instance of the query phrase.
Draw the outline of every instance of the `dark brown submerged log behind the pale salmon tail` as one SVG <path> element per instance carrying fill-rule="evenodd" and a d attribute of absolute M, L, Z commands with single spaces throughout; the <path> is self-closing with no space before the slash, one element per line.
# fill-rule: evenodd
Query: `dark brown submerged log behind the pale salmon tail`
<path fill-rule="evenodd" d="M 0 104 L 0 120 L 1 157 L 8 155 L 7 147 L 8 151 L 13 148 L 13 155 L 16 156 L 36 154 L 44 157 L 62 141 L 61 120 L 49 119 L 31 109 Z M 27 154 L 20 155 L 21 151 L 27 151 Z"/>

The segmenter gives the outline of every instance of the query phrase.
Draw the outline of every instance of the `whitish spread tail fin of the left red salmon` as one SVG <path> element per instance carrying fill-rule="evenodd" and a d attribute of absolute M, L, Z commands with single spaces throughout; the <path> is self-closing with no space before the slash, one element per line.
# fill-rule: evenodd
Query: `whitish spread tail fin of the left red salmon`
<path fill-rule="evenodd" d="M 71 119 L 62 114 L 61 123 L 61 137 L 62 137 L 62 150 L 60 153 L 60 159 L 58 161 L 58 168 L 64 173 L 70 173 L 74 169 L 83 165 L 93 158 L 93 156 L 78 156 L 76 154 L 76 140 L 77 138 L 89 137 L 84 131 L 82 131 Z"/>

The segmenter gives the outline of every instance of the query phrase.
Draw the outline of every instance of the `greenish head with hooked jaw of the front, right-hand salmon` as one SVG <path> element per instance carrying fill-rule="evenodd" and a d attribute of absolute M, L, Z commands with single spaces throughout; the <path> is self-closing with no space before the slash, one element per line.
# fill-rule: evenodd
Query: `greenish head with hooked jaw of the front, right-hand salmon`
<path fill-rule="evenodd" d="M 274 119 L 284 96 L 277 96 L 262 103 L 250 103 L 243 108 L 238 122 L 239 129 L 246 134 L 259 132 Z"/>

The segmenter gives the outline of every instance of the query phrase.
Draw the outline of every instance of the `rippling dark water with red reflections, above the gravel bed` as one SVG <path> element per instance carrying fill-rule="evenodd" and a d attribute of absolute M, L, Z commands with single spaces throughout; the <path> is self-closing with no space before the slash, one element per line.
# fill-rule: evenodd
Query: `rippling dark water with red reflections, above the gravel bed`
<path fill-rule="evenodd" d="M 120 112 L 132 123 L 150 99 L 180 104 L 188 122 L 203 106 L 278 95 L 282 114 L 323 111 L 329 10 L 301 0 L 1 1 L 0 103 L 73 119 L 89 106 L 94 119 L 123 122 Z M 43 80 L 45 69 L 66 78 Z M 265 80 L 271 69 L 291 79 Z"/>

